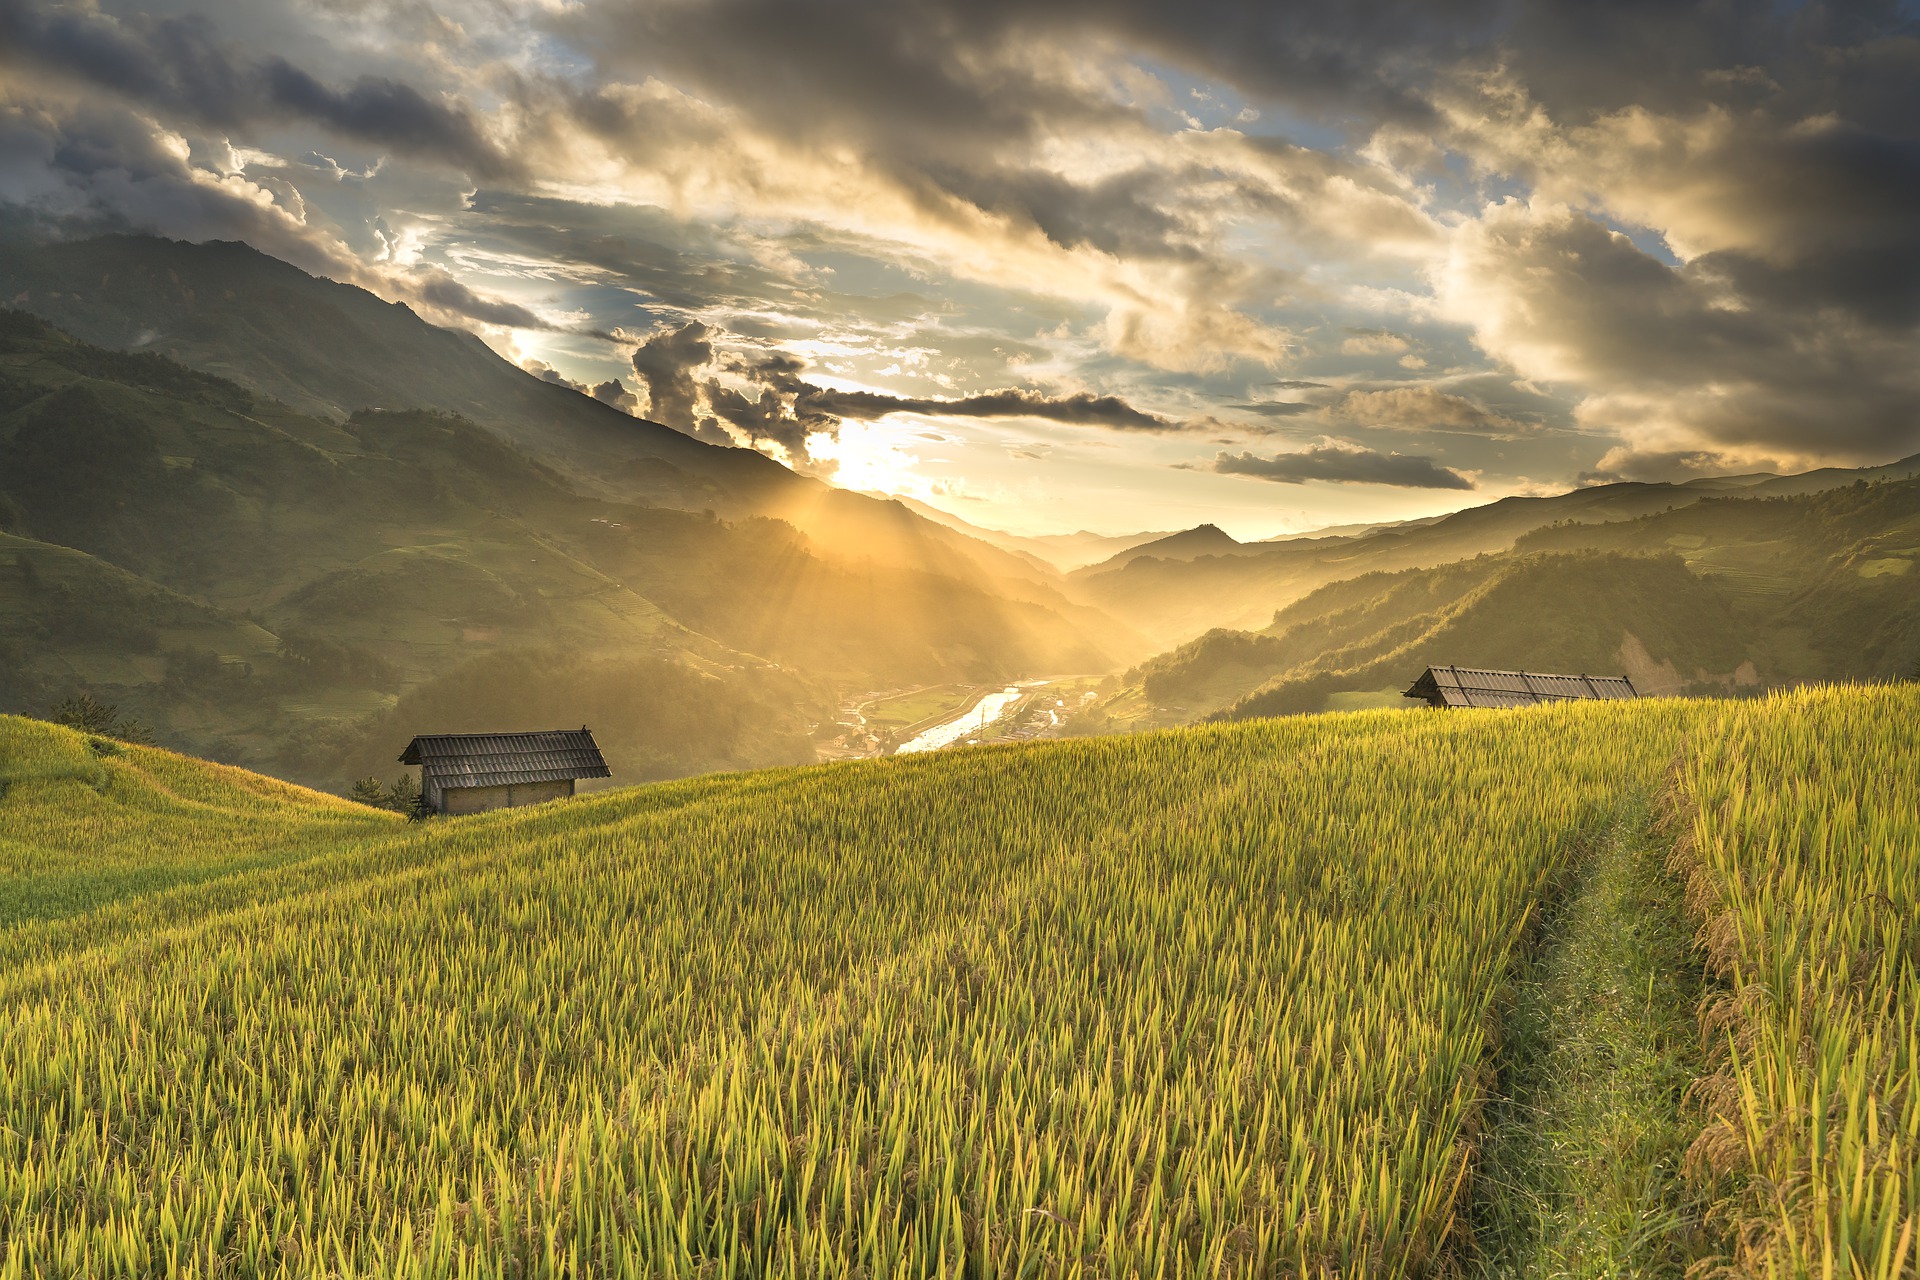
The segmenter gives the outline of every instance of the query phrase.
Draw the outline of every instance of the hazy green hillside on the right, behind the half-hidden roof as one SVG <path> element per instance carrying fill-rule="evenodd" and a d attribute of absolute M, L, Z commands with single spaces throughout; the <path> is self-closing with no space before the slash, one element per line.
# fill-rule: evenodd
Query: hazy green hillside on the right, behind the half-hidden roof
<path fill-rule="evenodd" d="M 1137 666 L 1104 716 L 1123 727 L 1396 704 L 1430 664 L 1624 672 L 1644 693 L 1912 672 L 1920 478 L 1751 495 L 1764 484 L 1329 583 L 1267 628 L 1215 629 Z"/>

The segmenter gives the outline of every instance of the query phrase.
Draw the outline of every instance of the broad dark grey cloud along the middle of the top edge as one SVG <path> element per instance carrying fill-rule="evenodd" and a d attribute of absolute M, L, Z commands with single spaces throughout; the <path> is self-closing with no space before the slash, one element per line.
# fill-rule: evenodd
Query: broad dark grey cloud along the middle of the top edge
<path fill-rule="evenodd" d="M 1112 102 L 1052 75 L 1048 54 L 1131 46 L 1265 100 L 1427 119 L 1419 84 L 1498 35 L 1503 0 L 712 0 L 607 4 L 557 29 L 611 69 L 732 102 L 781 134 L 858 138 L 933 163 L 979 155 Z"/>

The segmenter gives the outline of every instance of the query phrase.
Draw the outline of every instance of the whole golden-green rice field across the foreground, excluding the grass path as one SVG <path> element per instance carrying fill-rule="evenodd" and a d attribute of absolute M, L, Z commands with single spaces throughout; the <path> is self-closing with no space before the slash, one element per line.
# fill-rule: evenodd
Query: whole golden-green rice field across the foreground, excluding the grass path
<path fill-rule="evenodd" d="M 0 720 L 0 1276 L 1467 1274 L 1501 988 L 1663 787 L 1707 1228 L 1907 1274 L 1916 729 L 1356 712 L 407 827 Z"/>

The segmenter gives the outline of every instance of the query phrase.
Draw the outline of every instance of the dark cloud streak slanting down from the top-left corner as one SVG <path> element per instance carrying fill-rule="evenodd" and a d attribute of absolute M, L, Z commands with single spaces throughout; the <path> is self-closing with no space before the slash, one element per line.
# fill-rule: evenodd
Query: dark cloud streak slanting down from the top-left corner
<path fill-rule="evenodd" d="M 221 129 L 307 121 L 478 177 L 520 169 L 465 106 L 434 102 L 394 79 L 357 77 L 336 88 L 286 58 L 248 59 L 225 48 L 205 17 L 115 17 L 0 0 L 0 65 L 60 71 L 98 92 Z"/>

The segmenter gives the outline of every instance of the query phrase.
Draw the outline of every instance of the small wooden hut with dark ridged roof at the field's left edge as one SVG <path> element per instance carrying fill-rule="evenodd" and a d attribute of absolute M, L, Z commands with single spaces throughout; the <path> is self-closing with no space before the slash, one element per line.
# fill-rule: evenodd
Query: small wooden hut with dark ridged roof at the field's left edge
<path fill-rule="evenodd" d="M 580 777 L 612 777 L 586 725 L 540 733 L 428 733 L 401 764 L 420 766 L 420 802 L 436 814 L 480 814 L 574 794 Z"/>

